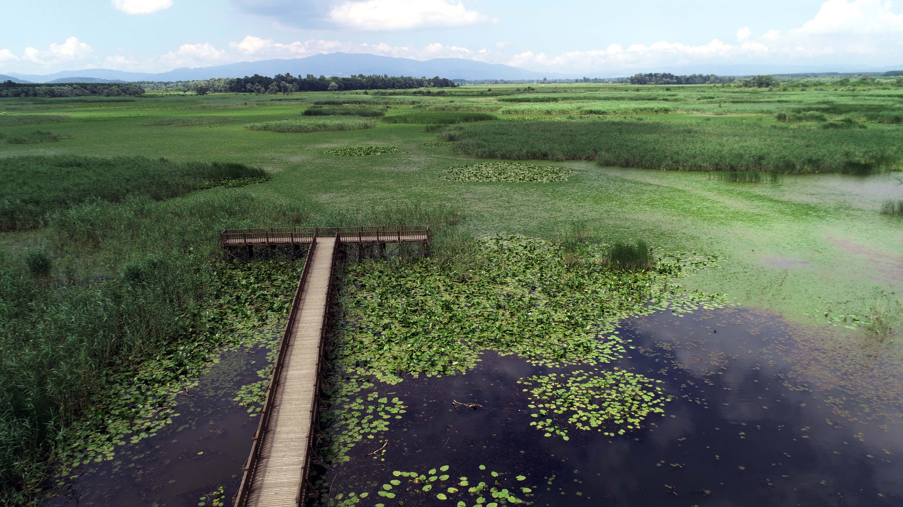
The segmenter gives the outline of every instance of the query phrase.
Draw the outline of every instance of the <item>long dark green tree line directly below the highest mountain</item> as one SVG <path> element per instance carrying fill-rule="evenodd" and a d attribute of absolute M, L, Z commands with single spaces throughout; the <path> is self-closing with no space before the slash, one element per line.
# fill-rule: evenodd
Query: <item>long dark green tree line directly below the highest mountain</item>
<path fill-rule="evenodd" d="M 307 77 L 292 74 L 277 74 L 275 77 L 246 76 L 244 78 L 214 78 L 198 81 L 175 81 L 165 83 L 137 83 L 149 91 L 193 91 L 200 95 L 211 92 L 256 93 L 256 94 L 288 94 L 299 91 L 346 91 L 370 89 L 410 89 L 410 88 L 454 88 L 458 85 L 452 79 L 413 78 L 408 76 L 350 76 L 348 78 L 319 78 L 308 74 Z"/>

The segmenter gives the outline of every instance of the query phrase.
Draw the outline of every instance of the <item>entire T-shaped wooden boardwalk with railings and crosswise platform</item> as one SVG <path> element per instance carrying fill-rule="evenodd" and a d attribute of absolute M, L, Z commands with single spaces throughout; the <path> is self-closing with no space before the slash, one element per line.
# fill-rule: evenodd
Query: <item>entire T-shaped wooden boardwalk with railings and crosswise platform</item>
<path fill-rule="evenodd" d="M 235 507 L 297 507 L 316 492 L 310 466 L 320 464 L 321 383 L 329 350 L 330 306 L 334 266 L 343 246 L 368 246 L 378 253 L 386 244 L 421 243 L 428 253 L 427 226 L 317 227 L 226 230 L 220 243 L 227 251 L 255 246 L 307 247 L 301 280 L 294 293 L 273 375 L 266 391 L 251 454 L 234 498 Z"/>

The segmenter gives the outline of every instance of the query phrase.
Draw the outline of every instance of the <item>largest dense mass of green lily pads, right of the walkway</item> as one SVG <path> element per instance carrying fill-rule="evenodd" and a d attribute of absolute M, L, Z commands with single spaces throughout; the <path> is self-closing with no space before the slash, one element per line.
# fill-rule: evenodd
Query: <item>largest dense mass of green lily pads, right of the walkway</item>
<path fill-rule="evenodd" d="M 436 258 L 349 264 L 336 361 L 387 383 L 463 373 L 485 349 L 533 364 L 608 363 L 627 345 L 614 333 L 620 319 L 721 305 L 675 283 L 695 269 L 687 260 L 663 257 L 654 270 L 631 272 L 610 269 L 601 246 L 573 265 L 564 254 L 554 242 L 503 236 L 479 242 L 465 272 Z"/>

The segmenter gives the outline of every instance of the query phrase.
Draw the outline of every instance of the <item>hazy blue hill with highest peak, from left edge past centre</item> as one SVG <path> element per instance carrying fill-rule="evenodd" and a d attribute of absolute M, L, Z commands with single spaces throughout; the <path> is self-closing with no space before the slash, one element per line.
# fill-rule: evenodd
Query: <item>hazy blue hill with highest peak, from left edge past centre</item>
<path fill-rule="evenodd" d="M 392 58 L 366 53 L 330 53 L 316 54 L 307 58 L 292 60 L 260 60 L 242 61 L 216 67 L 200 67 L 197 69 L 174 69 L 169 72 L 150 74 L 145 72 L 124 72 L 111 69 L 66 70 L 46 76 L 34 74 L 9 74 L 19 79 L 34 82 L 73 82 L 75 79 L 94 78 L 104 81 L 187 81 L 209 78 L 243 78 L 260 74 L 275 76 L 291 73 L 295 76 L 356 76 L 358 74 L 387 74 L 389 76 L 413 76 L 415 78 L 433 78 L 439 76 L 449 79 L 533 79 L 564 78 L 554 72 L 535 72 L 518 69 L 498 63 L 485 63 L 460 58 L 437 58 L 433 60 L 411 60 L 408 58 Z M 95 82 L 95 81 L 81 81 Z"/>

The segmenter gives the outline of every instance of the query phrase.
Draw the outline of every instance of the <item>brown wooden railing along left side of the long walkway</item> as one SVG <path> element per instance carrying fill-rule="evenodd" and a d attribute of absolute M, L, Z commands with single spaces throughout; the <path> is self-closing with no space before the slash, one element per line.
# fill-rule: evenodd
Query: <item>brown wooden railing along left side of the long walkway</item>
<path fill-rule="evenodd" d="M 292 309 L 289 310 L 288 320 L 285 322 L 285 330 L 283 331 L 282 339 L 279 340 L 279 350 L 278 352 L 276 352 L 276 360 L 275 364 L 273 365 L 273 374 L 270 376 L 270 384 L 266 388 L 264 407 L 262 410 L 260 410 L 260 414 L 257 416 L 260 419 L 257 423 L 257 431 L 251 441 L 251 454 L 247 457 L 245 466 L 242 467 L 244 475 L 242 475 L 241 484 L 238 486 L 238 493 L 236 493 L 235 496 L 236 505 L 245 504 L 247 493 L 250 490 L 251 481 L 254 478 L 254 472 L 257 466 L 257 458 L 260 455 L 260 448 L 264 443 L 266 423 L 273 411 L 273 403 L 275 399 L 276 389 L 278 389 L 279 383 L 279 373 L 282 372 L 282 368 L 285 363 L 285 351 L 292 338 L 292 330 L 298 318 L 298 310 L 301 305 L 301 294 L 304 288 L 304 281 L 307 278 L 307 272 L 310 271 L 311 263 L 313 261 L 313 250 L 314 248 L 316 248 L 316 245 L 317 241 L 314 237 L 312 238 L 311 246 L 307 250 L 307 258 L 304 261 L 304 267 L 301 272 L 301 281 L 298 281 L 298 288 L 294 291 Z M 329 298 L 327 298 L 327 301 L 329 301 Z"/>

